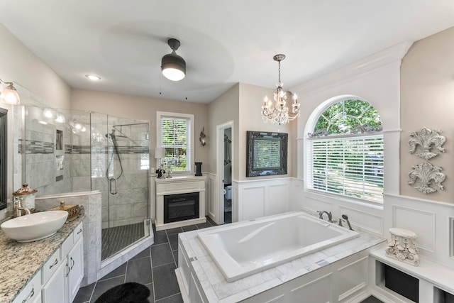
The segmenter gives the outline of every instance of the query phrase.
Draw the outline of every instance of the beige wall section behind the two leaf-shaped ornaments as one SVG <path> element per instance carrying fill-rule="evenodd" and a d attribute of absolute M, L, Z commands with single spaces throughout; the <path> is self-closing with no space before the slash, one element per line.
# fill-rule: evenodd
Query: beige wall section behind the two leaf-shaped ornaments
<path fill-rule="evenodd" d="M 401 194 L 454 203 L 454 27 L 416 41 L 402 60 L 401 75 Z M 441 130 L 447 139 L 445 153 L 428 160 L 446 175 L 445 189 L 433 194 L 407 184 L 411 166 L 425 162 L 408 145 L 410 133 L 423 127 Z"/>

